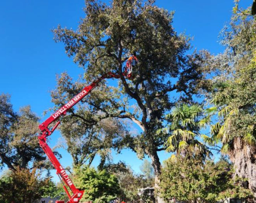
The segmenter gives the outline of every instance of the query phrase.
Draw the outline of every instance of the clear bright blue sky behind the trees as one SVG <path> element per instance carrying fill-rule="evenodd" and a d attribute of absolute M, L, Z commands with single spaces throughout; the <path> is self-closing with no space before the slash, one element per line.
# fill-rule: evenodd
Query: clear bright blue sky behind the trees
<path fill-rule="evenodd" d="M 248 7 L 253 0 L 242 0 L 240 6 Z M 175 10 L 173 26 L 180 33 L 193 36 L 194 48 L 220 53 L 218 34 L 232 14 L 233 0 L 157 0 L 156 5 Z M 53 41 L 51 29 L 62 27 L 76 29 L 84 17 L 84 1 L 76 0 L 9 0 L 0 6 L 0 94 L 11 94 L 11 102 L 19 107 L 31 105 L 32 110 L 43 118 L 43 111 L 52 107 L 49 91 L 56 85 L 55 75 L 64 71 L 73 78 L 83 73 L 68 58 L 64 45 Z M 59 134 L 53 134 L 50 145 L 54 146 Z M 70 156 L 60 150 L 65 158 L 63 165 L 71 165 Z M 163 161 L 168 155 L 160 154 Z M 129 150 L 121 155 L 113 154 L 114 160 L 124 160 L 139 172 L 142 161 Z"/>

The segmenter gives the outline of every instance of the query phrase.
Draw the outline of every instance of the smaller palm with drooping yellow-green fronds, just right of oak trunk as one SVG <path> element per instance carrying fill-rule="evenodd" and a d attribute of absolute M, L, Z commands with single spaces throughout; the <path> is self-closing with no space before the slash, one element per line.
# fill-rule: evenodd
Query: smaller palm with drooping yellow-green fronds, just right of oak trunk
<path fill-rule="evenodd" d="M 192 150 L 204 159 L 211 154 L 206 145 L 198 139 L 206 137 L 200 130 L 209 122 L 209 118 L 199 119 L 202 113 L 203 109 L 198 104 L 182 104 L 166 116 L 171 125 L 158 130 L 158 133 L 170 135 L 165 143 L 166 151 L 185 156 L 188 150 Z"/>

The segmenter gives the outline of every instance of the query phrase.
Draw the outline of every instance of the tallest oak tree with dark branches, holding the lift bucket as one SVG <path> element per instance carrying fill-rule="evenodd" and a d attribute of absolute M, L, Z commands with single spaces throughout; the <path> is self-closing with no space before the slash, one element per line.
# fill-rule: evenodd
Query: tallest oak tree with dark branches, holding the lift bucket
<path fill-rule="evenodd" d="M 111 87 L 104 81 L 69 116 L 86 122 L 85 128 L 106 118 L 133 121 L 141 133 L 123 136 L 123 146 L 151 158 L 158 187 L 157 152 L 165 150 L 166 138 L 156 131 L 176 102 L 191 101 L 204 85 L 202 57 L 185 55 L 189 39 L 175 32 L 173 12 L 157 7 L 154 0 L 113 0 L 110 5 L 86 0 L 84 11 L 77 30 L 61 26 L 54 30 L 55 40 L 63 42 L 67 55 L 84 68 L 84 80 L 73 84 L 66 75 L 59 78 L 61 86 L 53 92 L 53 101 L 61 106 L 99 75 L 118 74 L 118 85 Z M 127 80 L 122 72 L 132 54 L 139 62 L 133 69 L 134 79 Z"/>

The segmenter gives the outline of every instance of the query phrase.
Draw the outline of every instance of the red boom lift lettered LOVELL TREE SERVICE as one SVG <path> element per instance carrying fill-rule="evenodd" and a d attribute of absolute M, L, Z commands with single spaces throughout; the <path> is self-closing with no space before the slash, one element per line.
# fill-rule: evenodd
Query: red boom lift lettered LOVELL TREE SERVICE
<path fill-rule="evenodd" d="M 131 56 L 130 58 L 128 58 L 126 62 L 126 68 L 123 72 L 123 75 L 126 78 L 132 79 L 132 75 L 131 75 L 132 67 L 135 66 L 137 61 L 138 60 L 136 56 Z M 105 78 L 120 78 L 120 75 L 114 74 L 111 72 L 107 73 L 106 75 L 102 75 L 100 78 L 98 78 L 97 80 L 93 81 L 90 85 L 85 87 L 78 95 L 76 95 L 73 99 L 67 102 L 67 104 L 62 106 L 58 111 L 56 111 L 47 120 L 45 120 L 42 124 L 39 125 L 39 129 L 41 130 L 41 133 L 38 136 L 40 147 L 42 147 L 43 151 L 45 152 L 45 154 L 47 155 L 47 157 L 50 159 L 55 169 L 57 170 L 56 173 L 61 179 L 63 188 L 69 198 L 69 201 L 67 201 L 67 203 L 78 203 L 82 198 L 84 191 L 74 186 L 73 182 L 67 175 L 66 171 L 64 170 L 60 162 L 55 157 L 51 148 L 48 146 L 46 142 L 46 138 L 50 136 L 54 132 L 54 130 L 57 128 L 57 126 L 61 123 L 61 121 L 57 121 L 57 120 L 62 116 L 65 116 L 69 109 L 71 109 L 76 103 L 81 101 L 83 97 L 88 95 L 97 85 L 99 85 L 100 81 L 102 81 Z M 49 129 L 49 125 L 54 121 L 57 121 L 57 123 L 54 125 L 52 129 Z M 69 193 L 67 188 L 71 190 L 72 194 Z M 65 203 L 65 202 L 62 200 L 57 200 L 55 203 Z"/>

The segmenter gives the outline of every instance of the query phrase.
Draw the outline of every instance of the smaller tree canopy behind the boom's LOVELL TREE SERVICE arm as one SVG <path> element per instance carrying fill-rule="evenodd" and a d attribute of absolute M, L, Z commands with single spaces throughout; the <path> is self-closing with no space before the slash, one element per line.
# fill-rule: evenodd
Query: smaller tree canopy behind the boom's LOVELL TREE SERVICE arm
<path fill-rule="evenodd" d="M 61 107 L 87 85 L 84 81 L 73 84 L 72 78 L 67 73 L 62 73 L 58 76 L 57 90 L 51 93 L 53 101 Z M 126 137 L 129 139 L 128 122 L 111 118 L 119 113 L 112 105 L 123 105 L 123 101 L 115 103 L 119 99 L 116 91 L 101 84 L 100 89 L 94 89 L 86 96 L 82 105 L 76 105 L 62 119 L 61 134 L 66 140 L 65 147 L 71 154 L 74 165 L 90 165 L 95 155 L 100 155 L 99 169 L 102 169 L 107 161 L 111 161 L 111 148 L 119 151 L 124 145 L 119 141 Z"/>

